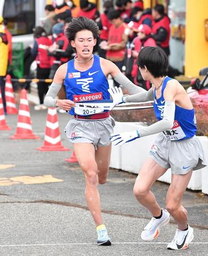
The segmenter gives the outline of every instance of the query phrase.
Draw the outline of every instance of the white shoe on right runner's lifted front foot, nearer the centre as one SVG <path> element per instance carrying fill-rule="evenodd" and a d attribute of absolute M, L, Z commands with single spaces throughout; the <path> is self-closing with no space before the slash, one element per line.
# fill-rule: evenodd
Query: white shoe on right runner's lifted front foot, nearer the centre
<path fill-rule="evenodd" d="M 151 221 L 145 226 L 141 233 L 142 240 L 151 241 L 159 236 L 160 228 L 165 226 L 170 221 L 170 214 L 167 210 L 162 209 L 163 216 L 161 218 L 151 218 Z"/>

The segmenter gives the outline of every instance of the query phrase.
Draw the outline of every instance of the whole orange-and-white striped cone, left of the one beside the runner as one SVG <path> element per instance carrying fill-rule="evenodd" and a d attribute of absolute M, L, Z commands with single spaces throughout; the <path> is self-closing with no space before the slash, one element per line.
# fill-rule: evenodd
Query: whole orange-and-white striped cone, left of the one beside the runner
<path fill-rule="evenodd" d="M 20 95 L 18 123 L 16 133 L 10 139 L 39 139 L 32 133 L 30 109 L 27 100 L 27 90 L 22 89 Z"/>

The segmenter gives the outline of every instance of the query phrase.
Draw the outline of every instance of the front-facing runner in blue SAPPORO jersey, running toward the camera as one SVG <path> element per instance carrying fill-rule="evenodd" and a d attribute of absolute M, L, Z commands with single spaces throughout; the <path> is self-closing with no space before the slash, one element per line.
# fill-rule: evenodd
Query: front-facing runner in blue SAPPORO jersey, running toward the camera
<path fill-rule="evenodd" d="M 99 30 L 97 24 L 85 17 L 72 19 L 65 31 L 69 43 L 76 51 L 76 57 L 57 69 L 53 82 L 45 96 L 48 107 L 60 107 L 73 115 L 65 127 L 66 135 L 73 143 L 73 150 L 86 179 L 85 197 L 91 215 L 97 226 L 98 245 L 111 245 L 107 229 L 101 217 L 98 183 L 106 183 L 110 164 L 111 142 L 114 119 L 109 110 L 101 114 L 78 115 L 74 112 L 74 102 L 88 100 L 110 100 L 107 77 L 123 85 L 130 94 L 143 89 L 132 84 L 118 67 L 109 60 L 93 55 Z M 66 100 L 56 100 L 61 85 L 65 85 Z M 146 96 L 145 96 L 146 97 Z M 148 97 L 144 101 L 148 101 Z"/>

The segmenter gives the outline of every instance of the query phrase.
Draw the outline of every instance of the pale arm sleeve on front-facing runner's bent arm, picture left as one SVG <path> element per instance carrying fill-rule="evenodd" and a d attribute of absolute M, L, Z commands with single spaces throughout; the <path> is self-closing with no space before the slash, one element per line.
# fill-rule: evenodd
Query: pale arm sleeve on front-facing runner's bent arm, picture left
<path fill-rule="evenodd" d="M 56 106 L 56 96 L 61 89 L 61 84 L 56 84 L 56 82 L 52 82 L 51 86 L 48 89 L 47 94 L 44 98 L 44 105 L 48 108 L 54 108 Z"/>

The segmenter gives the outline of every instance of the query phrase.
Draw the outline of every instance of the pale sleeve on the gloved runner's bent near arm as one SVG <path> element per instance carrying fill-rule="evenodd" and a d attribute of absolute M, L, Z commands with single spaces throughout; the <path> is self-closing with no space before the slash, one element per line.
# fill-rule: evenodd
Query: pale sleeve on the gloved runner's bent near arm
<path fill-rule="evenodd" d="M 164 105 L 163 119 L 153 123 L 153 125 L 139 128 L 138 131 L 140 137 L 161 133 L 161 131 L 171 129 L 173 127 L 175 109 L 176 105 L 174 102 L 166 101 Z"/>

